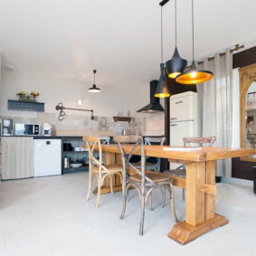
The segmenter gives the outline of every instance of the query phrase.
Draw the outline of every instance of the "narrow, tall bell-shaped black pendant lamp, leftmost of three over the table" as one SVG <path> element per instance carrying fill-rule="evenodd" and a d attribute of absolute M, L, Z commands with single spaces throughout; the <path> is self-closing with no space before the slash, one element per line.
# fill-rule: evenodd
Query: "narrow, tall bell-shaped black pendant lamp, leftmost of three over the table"
<path fill-rule="evenodd" d="M 165 3 L 164 3 L 165 2 Z M 162 1 L 159 5 L 161 5 L 161 63 L 160 63 L 160 78 L 156 87 L 155 97 L 157 98 L 167 98 L 170 97 L 170 91 L 166 84 L 165 78 L 165 64 L 163 63 L 163 15 L 162 15 L 162 7 L 168 1 Z"/>

